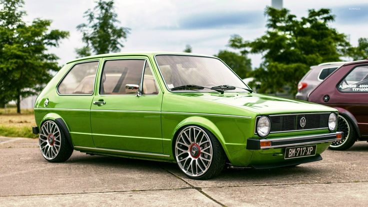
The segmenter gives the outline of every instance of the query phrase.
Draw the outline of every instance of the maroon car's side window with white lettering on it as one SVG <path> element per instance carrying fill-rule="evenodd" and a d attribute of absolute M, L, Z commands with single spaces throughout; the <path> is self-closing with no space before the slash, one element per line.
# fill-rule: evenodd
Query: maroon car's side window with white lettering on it
<path fill-rule="evenodd" d="M 352 69 L 337 88 L 341 92 L 368 92 L 368 65 Z"/>

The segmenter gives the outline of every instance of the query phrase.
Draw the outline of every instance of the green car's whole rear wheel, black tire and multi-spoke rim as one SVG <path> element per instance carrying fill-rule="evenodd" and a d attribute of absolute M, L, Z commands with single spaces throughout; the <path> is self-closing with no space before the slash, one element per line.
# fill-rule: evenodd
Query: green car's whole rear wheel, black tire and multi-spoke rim
<path fill-rule="evenodd" d="M 43 158 L 49 162 L 64 162 L 73 152 L 63 129 L 53 120 L 42 123 L 38 141 Z"/>

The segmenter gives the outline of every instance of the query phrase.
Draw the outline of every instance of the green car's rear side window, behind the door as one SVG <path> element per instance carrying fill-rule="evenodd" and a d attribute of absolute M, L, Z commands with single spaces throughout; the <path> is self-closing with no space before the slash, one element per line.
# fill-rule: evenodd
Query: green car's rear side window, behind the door
<path fill-rule="evenodd" d="M 98 61 L 75 64 L 58 85 L 58 93 L 91 95 L 97 66 Z"/>

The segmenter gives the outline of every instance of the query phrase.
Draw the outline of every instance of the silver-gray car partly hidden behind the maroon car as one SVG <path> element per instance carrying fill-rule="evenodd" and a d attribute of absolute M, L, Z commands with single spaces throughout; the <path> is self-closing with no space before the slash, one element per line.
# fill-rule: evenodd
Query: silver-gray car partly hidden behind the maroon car
<path fill-rule="evenodd" d="M 308 94 L 319 85 L 329 74 L 348 61 L 325 62 L 310 67 L 310 70 L 297 84 L 296 99 L 308 100 Z"/>

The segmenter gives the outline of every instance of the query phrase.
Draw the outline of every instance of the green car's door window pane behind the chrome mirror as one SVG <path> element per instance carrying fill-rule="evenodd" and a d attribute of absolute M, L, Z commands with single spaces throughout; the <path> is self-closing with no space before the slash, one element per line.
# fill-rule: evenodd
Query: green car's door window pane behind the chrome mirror
<path fill-rule="evenodd" d="M 143 59 L 117 59 L 105 61 L 99 93 L 130 94 L 125 92 L 125 85 L 139 85 L 144 61 Z"/>

